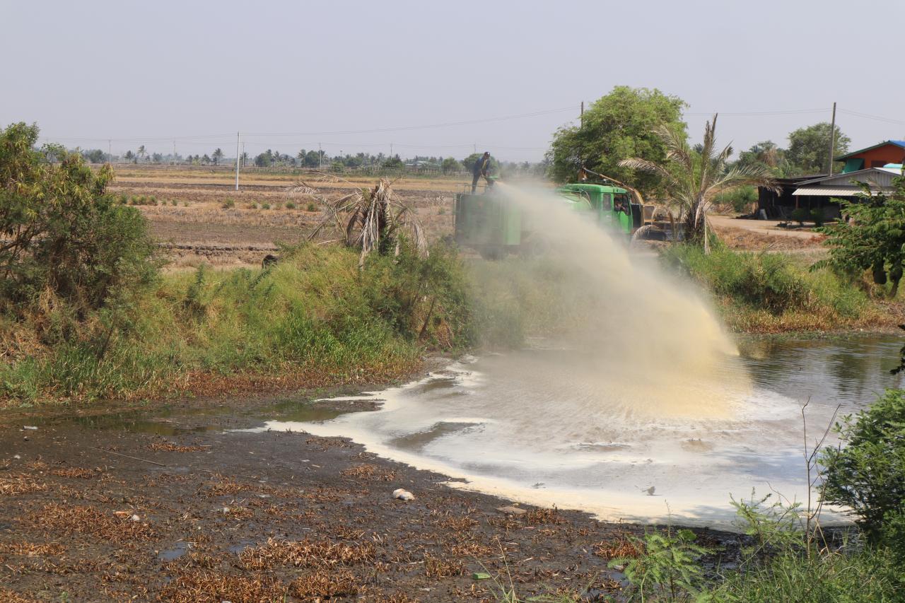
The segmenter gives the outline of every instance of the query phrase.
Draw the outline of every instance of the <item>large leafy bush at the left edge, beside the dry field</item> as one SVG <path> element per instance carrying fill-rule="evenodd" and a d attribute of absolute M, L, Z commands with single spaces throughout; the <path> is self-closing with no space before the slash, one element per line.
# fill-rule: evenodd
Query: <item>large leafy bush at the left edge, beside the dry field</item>
<path fill-rule="evenodd" d="M 37 137 L 24 123 L 0 133 L 0 311 L 22 316 L 50 294 L 81 316 L 151 282 L 154 244 L 142 215 L 106 192 L 110 166 L 36 151 Z"/>

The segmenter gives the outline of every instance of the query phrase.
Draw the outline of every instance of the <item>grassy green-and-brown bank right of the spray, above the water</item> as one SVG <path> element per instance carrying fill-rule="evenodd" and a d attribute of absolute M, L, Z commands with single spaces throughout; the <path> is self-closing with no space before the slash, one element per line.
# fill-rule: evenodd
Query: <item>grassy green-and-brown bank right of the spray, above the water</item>
<path fill-rule="evenodd" d="M 794 254 L 738 252 L 718 247 L 672 245 L 661 255 L 670 271 L 709 292 L 731 330 L 885 330 L 901 321 L 900 302 L 860 276 L 814 270 Z"/>

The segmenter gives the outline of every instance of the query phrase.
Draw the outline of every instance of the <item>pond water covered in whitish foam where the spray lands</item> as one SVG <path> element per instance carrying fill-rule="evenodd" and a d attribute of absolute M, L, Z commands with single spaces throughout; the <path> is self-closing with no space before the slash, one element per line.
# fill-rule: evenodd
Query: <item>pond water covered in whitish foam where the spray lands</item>
<path fill-rule="evenodd" d="M 614 374 L 569 349 L 532 349 L 462 359 L 376 392 L 385 400 L 376 412 L 264 428 L 350 436 L 467 480 L 460 487 L 526 503 L 607 520 L 672 513 L 677 522 L 725 525 L 730 495 L 747 498 L 754 488 L 805 498 L 802 406 L 809 400 L 813 443 L 837 406 L 853 412 L 900 386 L 889 375 L 900 345 L 895 337 L 742 341 L 738 357 L 695 384 L 706 408 L 678 414 L 657 413 L 644 398 L 669 391 L 657 375 Z M 688 383 L 675 387 L 688 395 Z"/>

